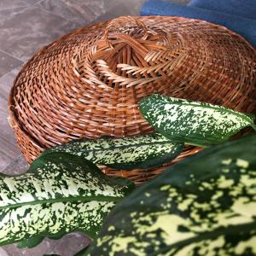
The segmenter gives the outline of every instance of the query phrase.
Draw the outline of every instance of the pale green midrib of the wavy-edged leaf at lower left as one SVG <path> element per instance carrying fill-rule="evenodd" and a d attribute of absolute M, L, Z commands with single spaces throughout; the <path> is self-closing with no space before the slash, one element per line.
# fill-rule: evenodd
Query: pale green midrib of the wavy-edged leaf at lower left
<path fill-rule="evenodd" d="M 118 202 L 122 200 L 123 196 L 68 196 L 64 198 L 51 198 L 51 199 L 44 199 L 44 200 L 37 200 L 37 201 L 26 201 L 22 203 L 16 203 L 12 205 L 7 205 L 4 207 L 0 207 L 0 211 L 3 209 L 9 208 L 16 208 L 16 207 L 23 207 L 23 206 L 32 206 L 44 203 L 55 203 L 55 202 L 73 202 L 73 201 L 81 201 L 81 202 L 90 202 L 90 201 L 113 201 Z"/>

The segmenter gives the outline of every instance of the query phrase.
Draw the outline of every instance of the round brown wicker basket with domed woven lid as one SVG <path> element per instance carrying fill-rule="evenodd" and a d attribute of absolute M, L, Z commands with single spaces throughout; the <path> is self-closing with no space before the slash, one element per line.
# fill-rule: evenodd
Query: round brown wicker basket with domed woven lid
<path fill-rule="evenodd" d="M 255 63 L 255 49 L 241 36 L 206 21 L 150 16 L 99 22 L 26 63 L 9 96 L 10 123 L 31 162 L 44 148 L 72 139 L 153 131 L 137 108 L 153 92 L 252 113 Z M 177 160 L 196 150 L 186 148 Z M 165 168 L 103 171 L 142 183 Z"/>

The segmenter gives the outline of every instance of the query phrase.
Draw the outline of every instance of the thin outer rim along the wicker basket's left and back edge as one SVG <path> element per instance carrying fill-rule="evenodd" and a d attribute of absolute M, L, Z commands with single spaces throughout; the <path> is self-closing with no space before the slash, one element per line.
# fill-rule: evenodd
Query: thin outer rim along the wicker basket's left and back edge
<path fill-rule="evenodd" d="M 119 16 L 119 17 L 127 17 L 126 16 Z M 241 42 L 243 42 L 244 44 L 247 44 L 247 47 L 249 47 L 250 49 L 253 50 L 253 52 L 256 54 L 256 49 L 253 47 L 252 44 L 250 44 L 246 38 L 243 38 L 240 34 L 238 34 L 237 32 L 234 32 L 232 30 L 230 30 L 229 28 L 227 28 L 226 26 L 222 26 L 222 25 L 218 25 L 212 22 L 209 22 L 207 20 L 201 20 L 201 19 L 193 19 L 193 18 L 186 18 L 186 17 L 180 17 L 180 16 L 166 16 L 166 15 L 149 15 L 149 16 L 132 16 L 135 18 L 143 18 L 144 20 L 151 20 L 151 19 L 172 19 L 172 20 L 190 20 L 191 22 L 203 22 L 205 24 L 208 24 L 212 27 L 215 28 L 220 28 L 222 30 L 224 30 L 225 32 L 228 32 L 230 35 L 239 38 L 241 40 Z M 37 141 L 37 139 L 35 137 L 32 137 L 32 135 L 30 135 L 28 132 L 26 132 L 23 127 L 22 124 L 20 124 L 19 119 L 17 118 L 17 115 L 15 113 L 15 106 L 13 104 L 13 100 L 14 100 L 14 93 L 15 93 L 15 84 L 17 83 L 17 81 L 20 79 L 20 74 L 23 72 L 24 69 L 26 69 L 27 66 L 30 65 L 31 61 L 33 61 L 33 59 L 35 59 L 38 55 L 41 55 L 42 53 L 44 53 L 44 50 L 48 49 L 51 45 L 56 44 L 57 42 L 63 40 L 64 38 L 68 38 L 70 35 L 72 35 L 74 32 L 79 32 L 80 30 L 82 30 L 84 27 L 89 28 L 90 26 L 96 26 L 97 24 L 101 24 L 101 23 L 105 23 L 108 24 L 107 22 L 109 22 L 111 20 L 103 20 L 103 21 L 97 21 L 94 22 L 92 24 L 89 24 L 87 26 L 81 26 L 79 28 L 76 28 L 74 30 L 72 30 L 71 32 L 66 33 L 65 35 L 56 38 L 53 42 L 41 47 L 40 49 L 38 49 L 37 53 L 35 55 L 32 55 L 32 57 L 30 59 L 28 59 L 28 61 L 26 61 L 26 64 L 21 67 L 20 72 L 17 74 L 17 76 L 15 77 L 15 80 L 12 84 L 11 90 L 9 92 L 9 100 L 8 100 L 8 108 L 9 108 L 9 123 L 12 126 L 12 128 L 17 127 L 20 131 L 20 133 L 22 133 L 22 135 L 24 137 L 26 137 L 36 148 L 38 148 L 40 151 L 44 150 L 45 147 L 40 145 L 41 143 L 39 143 Z"/>

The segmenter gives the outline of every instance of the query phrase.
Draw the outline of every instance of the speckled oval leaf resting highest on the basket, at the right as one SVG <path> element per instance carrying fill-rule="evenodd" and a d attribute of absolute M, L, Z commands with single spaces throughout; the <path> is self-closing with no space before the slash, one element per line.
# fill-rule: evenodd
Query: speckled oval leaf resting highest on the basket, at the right
<path fill-rule="evenodd" d="M 208 146 L 222 143 L 252 126 L 253 114 L 205 102 L 191 102 L 154 94 L 140 102 L 144 118 L 154 129 L 175 142 Z"/>

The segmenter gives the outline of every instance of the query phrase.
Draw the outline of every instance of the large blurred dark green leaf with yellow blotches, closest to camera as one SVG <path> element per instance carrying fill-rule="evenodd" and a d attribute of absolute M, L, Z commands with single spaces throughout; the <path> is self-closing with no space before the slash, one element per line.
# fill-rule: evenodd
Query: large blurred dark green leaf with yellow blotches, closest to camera
<path fill-rule="evenodd" d="M 255 155 L 253 134 L 177 163 L 121 201 L 87 253 L 256 255 Z"/>

